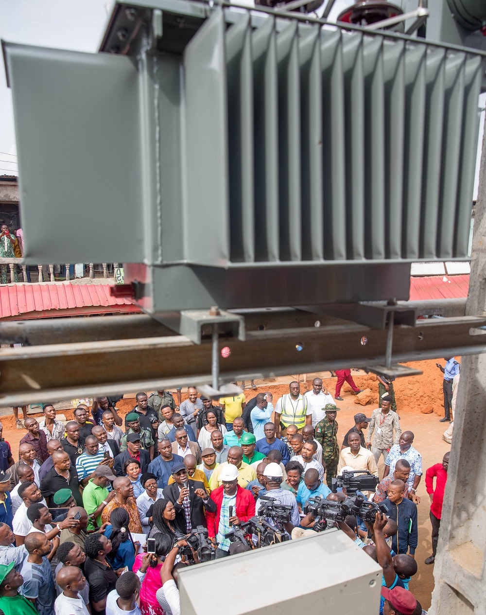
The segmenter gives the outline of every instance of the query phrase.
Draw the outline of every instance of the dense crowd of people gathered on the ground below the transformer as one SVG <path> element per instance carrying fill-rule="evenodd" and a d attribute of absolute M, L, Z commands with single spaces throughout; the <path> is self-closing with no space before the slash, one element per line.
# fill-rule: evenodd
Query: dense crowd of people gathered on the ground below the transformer
<path fill-rule="evenodd" d="M 178 569 L 198 562 L 187 542 L 198 526 L 207 529 L 216 558 L 230 557 L 238 550 L 227 534 L 254 517 L 266 496 L 289 506 L 284 531 L 298 539 L 315 531 L 305 502 L 342 501 L 345 489 L 333 493 L 332 479 L 363 470 L 381 478 L 363 495 L 388 512 L 374 524 L 348 517 L 337 525 L 382 566 L 380 613 L 422 613 L 409 590 L 417 572 L 421 454 L 413 433 L 401 431 L 390 387 L 383 387 L 380 407 L 370 418 L 356 414 L 342 443 L 340 409 L 320 378 L 304 395 L 292 382 L 275 407 L 270 392 L 248 403 L 243 394 L 216 402 L 193 387 L 184 402 L 180 390 L 177 402 L 168 391 L 139 392 L 124 421 L 120 398 L 80 404 L 66 424 L 52 404 L 44 405 L 42 421 L 25 421 L 18 461 L 0 431 L 0 609 L 178 615 Z M 446 454 L 426 470 L 428 564 L 436 554 L 448 462 Z"/>

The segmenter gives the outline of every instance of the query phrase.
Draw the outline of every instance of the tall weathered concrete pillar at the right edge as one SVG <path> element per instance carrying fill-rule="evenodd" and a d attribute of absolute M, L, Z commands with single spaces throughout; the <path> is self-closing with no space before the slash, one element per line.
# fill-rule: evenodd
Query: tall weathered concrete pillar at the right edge
<path fill-rule="evenodd" d="M 486 314 L 486 130 L 466 315 Z M 477 335 L 486 335 L 476 331 Z M 486 345 L 486 337 L 485 337 Z M 486 612 L 486 354 L 461 360 L 429 615 Z M 425 470 L 425 468 L 424 468 Z"/>

